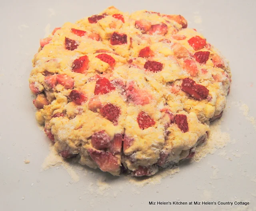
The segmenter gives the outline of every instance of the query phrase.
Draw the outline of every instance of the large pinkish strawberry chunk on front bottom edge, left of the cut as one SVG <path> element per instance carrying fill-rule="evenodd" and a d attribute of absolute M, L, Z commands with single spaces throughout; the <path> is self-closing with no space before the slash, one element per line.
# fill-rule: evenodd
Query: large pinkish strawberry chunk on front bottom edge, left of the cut
<path fill-rule="evenodd" d="M 118 159 L 108 151 L 88 150 L 90 157 L 97 163 L 102 171 L 118 171 L 120 164 Z"/>

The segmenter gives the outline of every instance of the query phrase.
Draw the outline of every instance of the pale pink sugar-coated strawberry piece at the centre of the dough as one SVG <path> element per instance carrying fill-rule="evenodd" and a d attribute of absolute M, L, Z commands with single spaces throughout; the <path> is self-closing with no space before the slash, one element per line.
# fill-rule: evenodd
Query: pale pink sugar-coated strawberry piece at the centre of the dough
<path fill-rule="evenodd" d="M 126 85 L 126 96 L 134 104 L 142 106 L 149 104 L 152 100 L 152 96 L 146 90 L 136 88 L 134 82 Z"/>

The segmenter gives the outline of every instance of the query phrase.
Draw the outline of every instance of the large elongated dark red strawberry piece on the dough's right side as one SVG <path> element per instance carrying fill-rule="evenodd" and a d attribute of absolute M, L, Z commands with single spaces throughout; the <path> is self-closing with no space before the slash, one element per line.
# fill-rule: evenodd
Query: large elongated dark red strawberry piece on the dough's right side
<path fill-rule="evenodd" d="M 184 78 L 182 85 L 182 91 L 188 93 L 196 100 L 202 100 L 207 98 L 209 94 L 209 90 L 200 84 L 196 84 L 196 82 L 190 78 Z"/>

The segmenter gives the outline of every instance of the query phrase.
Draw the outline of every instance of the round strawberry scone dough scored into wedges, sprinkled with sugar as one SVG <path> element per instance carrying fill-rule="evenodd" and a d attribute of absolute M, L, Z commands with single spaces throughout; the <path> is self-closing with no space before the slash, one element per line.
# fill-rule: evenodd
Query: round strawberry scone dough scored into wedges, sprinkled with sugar
<path fill-rule="evenodd" d="M 180 15 L 111 6 L 40 40 L 29 87 L 65 159 L 150 176 L 189 159 L 221 117 L 230 68 Z"/>

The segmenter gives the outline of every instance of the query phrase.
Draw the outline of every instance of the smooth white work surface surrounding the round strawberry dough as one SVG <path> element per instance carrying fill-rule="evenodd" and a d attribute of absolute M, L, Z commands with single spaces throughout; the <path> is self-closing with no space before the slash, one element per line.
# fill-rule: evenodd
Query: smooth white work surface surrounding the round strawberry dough
<path fill-rule="evenodd" d="M 220 150 L 214 155 L 208 155 L 200 163 L 182 167 L 180 173 L 173 178 L 162 179 L 160 185 L 145 187 L 136 187 L 125 179 L 107 176 L 106 183 L 110 185 L 110 189 L 103 192 L 99 191 L 97 181 L 98 176 L 106 174 L 99 171 L 90 170 L 92 173 L 84 175 L 83 171 L 77 169 L 80 181 L 72 184 L 69 183 L 72 179 L 62 167 L 41 172 L 42 162 L 48 155 L 48 140 L 36 124 L 28 88 L 31 60 L 39 47 L 39 38 L 44 37 L 48 30 L 51 32 L 55 27 L 62 26 L 64 22 L 75 22 L 84 16 L 97 14 L 111 5 L 127 12 L 146 9 L 165 14 L 182 14 L 188 20 L 188 27 L 202 32 L 207 41 L 230 60 L 232 87 L 222 117 L 222 130 L 228 131 L 236 143 L 230 143 L 222 150 L 226 150 L 226 156 L 231 157 L 232 161 L 218 156 Z M 234 102 L 241 101 L 250 107 L 249 115 L 256 116 L 255 9 L 254 0 L 1 2 L 0 210 L 219 211 L 247 208 L 255 211 L 256 133 L 253 125 L 239 110 L 239 106 L 234 106 Z M 241 157 L 237 158 L 232 153 L 240 154 Z M 31 161 L 29 164 L 24 164 L 25 157 Z M 210 178 L 214 173 L 212 165 L 218 167 L 217 176 L 220 179 Z M 250 201 L 250 205 L 148 205 L 148 201 L 177 199 L 243 200 Z"/>

